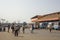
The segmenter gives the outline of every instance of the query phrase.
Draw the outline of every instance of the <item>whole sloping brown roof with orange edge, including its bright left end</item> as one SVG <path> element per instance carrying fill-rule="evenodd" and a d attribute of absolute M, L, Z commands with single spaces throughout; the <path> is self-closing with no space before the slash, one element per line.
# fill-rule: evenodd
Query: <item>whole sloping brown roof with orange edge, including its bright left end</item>
<path fill-rule="evenodd" d="M 33 20 L 34 19 L 34 20 Z M 36 18 L 33 18 L 32 22 L 45 22 L 45 21 L 55 21 L 55 20 L 60 20 L 60 12 L 55 12 L 51 14 L 47 14 L 44 16 L 39 16 Z"/>

